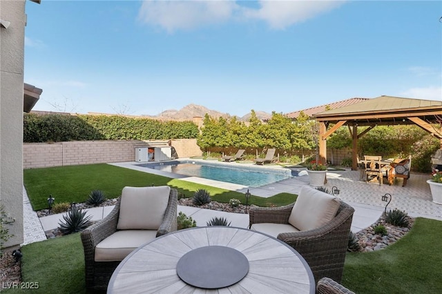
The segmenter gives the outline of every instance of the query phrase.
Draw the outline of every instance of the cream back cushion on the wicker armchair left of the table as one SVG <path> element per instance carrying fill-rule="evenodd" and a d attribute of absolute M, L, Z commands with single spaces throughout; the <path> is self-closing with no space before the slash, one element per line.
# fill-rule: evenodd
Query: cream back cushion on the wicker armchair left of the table
<path fill-rule="evenodd" d="M 124 187 L 118 230 L 157 230 L 169 203 L 169 186 Z"/>

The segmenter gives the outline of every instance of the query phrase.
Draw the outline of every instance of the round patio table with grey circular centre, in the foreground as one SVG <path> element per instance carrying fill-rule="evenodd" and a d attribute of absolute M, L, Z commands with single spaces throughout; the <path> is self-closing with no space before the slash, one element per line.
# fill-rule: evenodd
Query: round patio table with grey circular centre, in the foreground
<path fill-rule="evenodd" d="M 246 228 L 206 226 L 155 238 L 115 269 L 107 293 L 315 293 L 305 259 Z"/>

